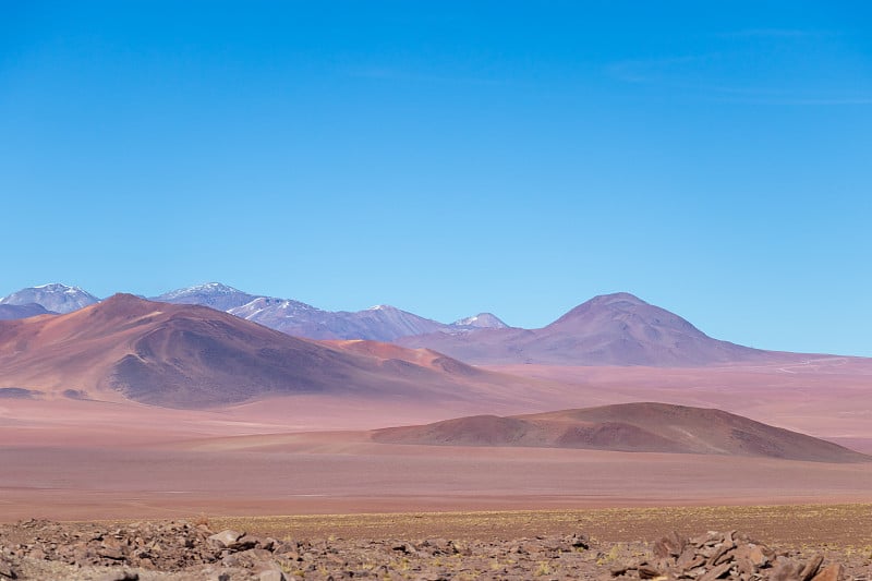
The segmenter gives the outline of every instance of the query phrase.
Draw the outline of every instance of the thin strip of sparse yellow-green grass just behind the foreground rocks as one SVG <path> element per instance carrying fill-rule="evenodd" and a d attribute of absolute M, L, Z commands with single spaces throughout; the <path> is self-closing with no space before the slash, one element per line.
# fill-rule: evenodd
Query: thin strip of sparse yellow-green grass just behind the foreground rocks
<path fill-rule="evenodd" d="M 572 510 L 210 517 L 214 529 L 276 538 L 520 538 L 584 533 L 604 542 L 740 530 L 792 546 L 872 546 L 872 505 L 644 507 Z"/>

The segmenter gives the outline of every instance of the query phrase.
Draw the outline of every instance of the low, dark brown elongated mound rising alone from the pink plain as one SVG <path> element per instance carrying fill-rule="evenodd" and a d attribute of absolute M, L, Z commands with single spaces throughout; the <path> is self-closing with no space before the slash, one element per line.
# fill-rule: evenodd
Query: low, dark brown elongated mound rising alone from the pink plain
<path fill-rule="evenodd" d="M 836 444 L 720 410 L 621 403 L 498 417 L 475 415 L 373 432 L 375 441 L 435 446 L 525 446 L 758 456 L 819 462 L 872 461 Z"/>

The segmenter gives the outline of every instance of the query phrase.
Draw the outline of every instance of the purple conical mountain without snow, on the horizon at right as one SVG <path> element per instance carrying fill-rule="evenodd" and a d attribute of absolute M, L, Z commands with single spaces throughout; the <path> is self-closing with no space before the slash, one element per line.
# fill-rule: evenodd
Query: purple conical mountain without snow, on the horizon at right
<path fill-rule="evenodd" d="M 713 339 L 664 308 L 620 292 L 596 296 L 540 329 L 432 332 L 396 341 L 472 364 L 695 366 L 797 355 Z"/>

